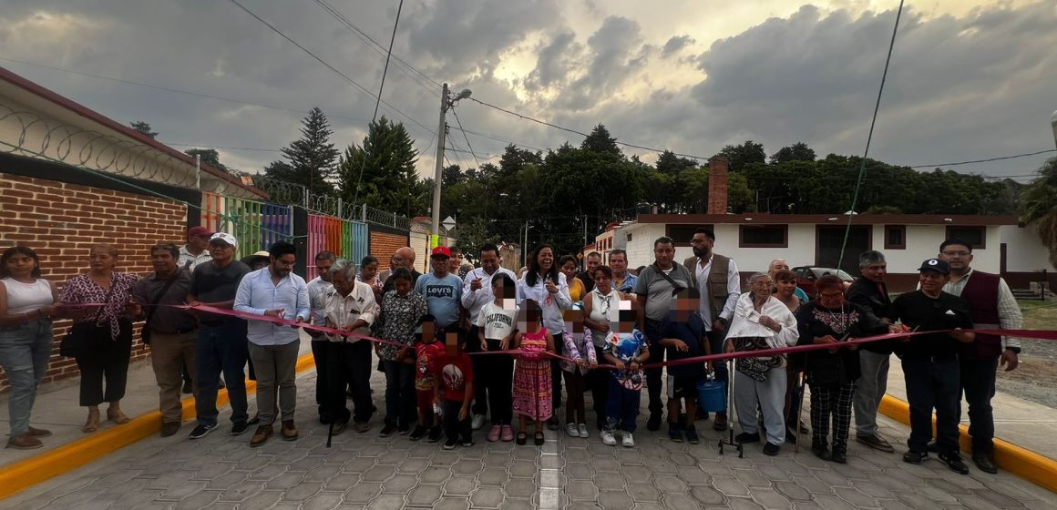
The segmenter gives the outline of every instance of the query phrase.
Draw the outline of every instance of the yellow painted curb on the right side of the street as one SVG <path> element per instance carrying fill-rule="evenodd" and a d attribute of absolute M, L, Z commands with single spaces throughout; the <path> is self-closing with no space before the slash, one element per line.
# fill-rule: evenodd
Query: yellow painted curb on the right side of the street
<path fill-rule="evenodd" d="M 910 424 L 910 407 L 907 402 L 891 395 L 885 395 L 877 411 L 896 421 Z M 934 415 L 932 416 L 932 427 L 933 429 L 935 427 Z M 972 449 L 969 429 L 963 424 L 959 424 L 958 429 L 962 451 L 968 453 Z M 1057 460 L 995 438 L 995 464 L 1039 487 L 1057 492 Z"/>

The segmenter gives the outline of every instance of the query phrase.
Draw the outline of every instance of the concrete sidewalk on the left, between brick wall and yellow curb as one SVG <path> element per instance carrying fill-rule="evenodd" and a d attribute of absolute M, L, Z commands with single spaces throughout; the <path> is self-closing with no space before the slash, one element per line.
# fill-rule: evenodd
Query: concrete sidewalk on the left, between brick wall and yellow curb
<path fill-rule="evenodd" d="M 308 335 L 301 334 L 299 356 L 312 352 L 310 338 Z M 52 431 L 52 436 L 41 438 L 44 448 L 36 450 L 0 449 L 0 470 L 12 464 L 40 455 L 92 435 L 80 431 L 80 428 L 85 424 L 85 419 L 88 417 L 88 411 L 78 404 L 79 380 L 79 378 L 74 377 L 43 388 L 43 392 L 37 395 L 36 404 L 33 407 L 31 423 L 39 429 Z M 313 386 L 312 390 L 314 391 L 315 388 Z M 190 395 L 184 395 L 184 398 L 189 397 Z M 6 393 L 0 395 L 0 430 L 3 431 L 5 436 L 11 430 L 7 398 L 8 394 Z M 251 402 L 253 402 L 253 399 L 251 399 Z M 100 405 L 99 409 L 104 416 L 104 421 L 99 423 L 99 430 L 93 434 L 123 427 L 106 421 L 106 404 Z M 254 409 L 252 404 L 251 415 L 253 415 Z M 136 416 L 156 410 L 157 383 L 154 379 L 154 371 L 150 366 L 150 361 L 140 362 L 130 366 L 126 395 L 122 399 L 122 411 L 130 418 L 135 418 Z M 222 417 L 222 419 L 226 418 Z M 193 422 L 191 424 L 193 426 Z M 224 424 L 227 424 L 227 422 L 221 421 L 221 426 Z M 188 422 L 185 422 L 177 435 L 186 436 L 190 432 L 191 427 L 188 427 Z"/>

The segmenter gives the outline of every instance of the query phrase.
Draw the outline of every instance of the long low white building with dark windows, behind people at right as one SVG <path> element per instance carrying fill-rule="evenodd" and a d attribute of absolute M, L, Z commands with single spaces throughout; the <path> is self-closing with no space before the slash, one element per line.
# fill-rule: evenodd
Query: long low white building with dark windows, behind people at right
<path fill-rule="evenodd" d="M 638 267 L 653 262 L 653 242 L 667 235 L 675 241 L 675 260 L 682 262 L 693 254 L 693 231 L 710 228 L 716 232 L 716 252 L 735 259 L 744 284 L 749 275 L 765 271 L 779 258 L 790 266 L 836 267 L 848 220 L 827 214 L 639 214 L 636 221 L 599 234 L 595 245 L 624 245 L 628 265 Z M 857 214 L 851 220 L 841 269 L 857 276 L 858 254 L 868 249 L 882 251 L 893 291 L 916 285 L 917 267 L 937 256 L 945 239 L 971 243 L 972 267 L 1001 273 L 1015 288 L 1054 278 L 1047 250 L 1035 229 L 1018 225 L 1015 216 Z"/>

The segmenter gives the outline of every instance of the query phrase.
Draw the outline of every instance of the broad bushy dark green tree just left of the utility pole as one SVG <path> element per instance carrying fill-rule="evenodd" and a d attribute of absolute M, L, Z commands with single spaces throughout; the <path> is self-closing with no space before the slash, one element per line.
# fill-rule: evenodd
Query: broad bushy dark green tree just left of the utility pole
<path fill-rule="evenodd" d="M 414 218 L 425 212 L 432 186 L 431 180 L 419 177 L 418 160 L 419 152 L 404 125 L 382 116 L 371 122 L 361 146 L 345 150 L 338 166 L 339 195 L 353 203 L 358 186 L 358 204 Z"/>

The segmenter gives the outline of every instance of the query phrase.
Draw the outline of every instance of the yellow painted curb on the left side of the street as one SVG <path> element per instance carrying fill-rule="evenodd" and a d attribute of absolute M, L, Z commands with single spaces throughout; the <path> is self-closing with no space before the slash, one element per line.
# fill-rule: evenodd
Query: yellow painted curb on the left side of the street
<path fill-rule="evenodd" d="M 297 372 L 315 366 L 312 354 L 297 359 Z M 246 394 L 256 391 L 255 381 L 246 381 Z M 226 405 L 226 390 L 217 393 L 217 407 Z M 194 398 L 183 400 L 184 419 L 194 417 Z M 41 481 L 73 471 L 104 455 L 113 453 L 141 439 L 157 434 L 162 430 L 162 413 L 150 411 L 133 418 L 126 424 L 99 431 L 95 434 L 62 445 L 40 455 L 26 458 L 0 469 L 0 499 Z"/>

